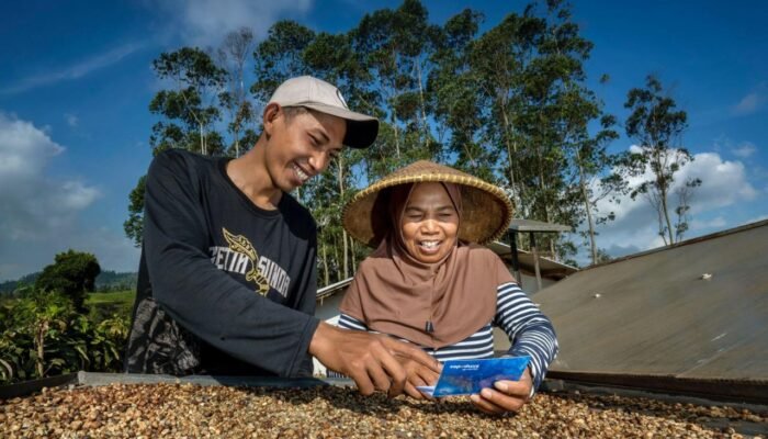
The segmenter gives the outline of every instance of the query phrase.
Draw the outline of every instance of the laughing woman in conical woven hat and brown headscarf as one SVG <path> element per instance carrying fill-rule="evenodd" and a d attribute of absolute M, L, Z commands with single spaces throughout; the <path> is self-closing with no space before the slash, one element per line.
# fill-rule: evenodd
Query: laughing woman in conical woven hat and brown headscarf
<path fill-rule="evenodd" d="M 341 303 L 339 326 L 395 336 L 440 361 L 492 358 L 494 325 L 530 356 L 520 381 L 498 381 L 472 395 L 487 413 L 517 412 L 542 382 L 557 351 L 546 318 L 519 289 L 488 243 L 507 229 L 512 207 L 483 180 L 418 161 L 361 191 L 345 209 L 345 228 L 375 247 Z M 406 364 L 406 391 L 437 375 Z"/>

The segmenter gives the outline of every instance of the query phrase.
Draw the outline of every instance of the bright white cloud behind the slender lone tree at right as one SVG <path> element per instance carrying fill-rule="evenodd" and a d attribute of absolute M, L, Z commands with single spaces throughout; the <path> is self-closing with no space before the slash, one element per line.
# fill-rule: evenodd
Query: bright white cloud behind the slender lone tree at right
<path fill-rule="evenodd" d="M 718 215 L 719 210 L 737 203 L 755 200 L 758 191 L 747 181 L 744 165 L 741 161 L 723 160 L 716 153 L 696 154 L 693 161 L 686 164 L 676 175 L 670 201 L 674 203 L 669 213 L 674 215 L 677 199 L 674 191 L 682 187 L 685 181 L 700 178 L 702 184 L 693 191 L 691 205 L 690 232 L 707 228 L 724 228 L 729 226 L 726 215 Z M 636 185 L 647 179 L 645 176 L 630 179 L 631 185 Z M 651 203 L 643 198 L 632 201 L 629 195 L 620 198 L 619 204 L 602 200 L 598 203 L 601 213 L 613 212 L 615 221 L 598 226 L 598 245 L 609 249 L 612 256 L 625 255 L 621 249 L 647 250 L 664 245 L 658 236 L 657 213 Z M 700 221 L 698 215 L 705 213 L 715 214 L 713 219 Z M 674 222 L 674 218 L 670 218 Z M 687 237 L 690 237 L 689 234 Z"/>

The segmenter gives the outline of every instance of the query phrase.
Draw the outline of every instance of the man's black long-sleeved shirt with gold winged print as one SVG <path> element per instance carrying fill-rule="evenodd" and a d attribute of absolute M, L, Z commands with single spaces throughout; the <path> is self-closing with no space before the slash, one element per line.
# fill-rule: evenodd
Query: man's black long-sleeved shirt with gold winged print
<path fill-rule="evenodd" d="M 312 372 L 315 222 L 287 193 L 256 206 L 227 161 L 169 150 L 149 168 L 128 372 Z"/>

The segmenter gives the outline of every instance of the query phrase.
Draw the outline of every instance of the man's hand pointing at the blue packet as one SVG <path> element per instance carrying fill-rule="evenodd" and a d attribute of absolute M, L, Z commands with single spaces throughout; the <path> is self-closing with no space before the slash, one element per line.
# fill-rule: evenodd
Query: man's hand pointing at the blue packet
<path fill-rule="evenodd" d="M 437 360 L 416 346 L 384 335 L 340 329 L 325 322 L 312 337 L 309 353 L 327 368 L 354 380 L 363 395 L 375 390 L 389 396 L 403 393 L 407 373 L 400 361 L 413 360 L 436 372 L 440 368 Z"/>

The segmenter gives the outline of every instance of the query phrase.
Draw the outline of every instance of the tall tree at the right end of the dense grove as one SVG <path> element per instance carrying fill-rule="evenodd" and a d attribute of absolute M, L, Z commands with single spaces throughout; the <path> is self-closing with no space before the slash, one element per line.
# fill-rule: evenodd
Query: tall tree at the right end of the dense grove
<path fill-rule="evenodd" d="M 544 218 L 565 223 L 574 228 L 586 223 L 592 263 L 599 260 L 596 241 L 597 224 L 613 218 L 612 212 L 598 212 L 597 203 L 608 196 L 617 201 L 625 189 L 625 180 L 615 172 L 618 156 L 608 153 L 609 144 L 618 138 L 615 119 L 602 111 L 602 103 L 586 86 L 584 63 L 592 43 L 579 34 L 569 7 L 560 0 L 546 2 L 546 31 L 538 44 L 539 57 L 532 63 L 537 74 L 530 90 L 546 90 L 538 104 L 544 115 L 540 124 L 550 131 L 554 148 L 542 160 L 538 156 L 540 187 L 538 194 L 546 196 Z M 607 81 L 603 75 L 600 82 Z M 537 92 L 533 93 L 538 94 Z M 544 122 L 546 121 L 546 122 Z M 555 165 L 541 171 L 542 164 Z M 546 173 L 560 175 L 550 178 Z M 573 196 L 575 194 L 575 196 Z"/>

